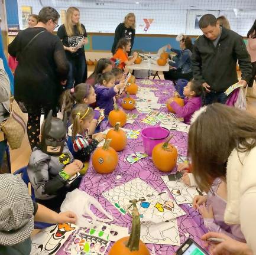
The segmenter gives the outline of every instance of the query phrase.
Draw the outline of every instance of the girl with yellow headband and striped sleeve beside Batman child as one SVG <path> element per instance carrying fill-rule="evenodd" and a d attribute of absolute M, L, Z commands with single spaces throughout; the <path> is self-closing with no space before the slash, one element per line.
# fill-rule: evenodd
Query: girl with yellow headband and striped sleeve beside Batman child
<path fill-rule="evenodd" d="M 86 104 L 77 104 L 71 112 L 72 125 L 69 127 L 67 145 L 74 158 L 82 162 L 89 161 L 90 153 L 105 138 L 103 133 L 89 136 L 88 129 L 90 122 L 93 120 L 93 115 L 93 109 Z"/>

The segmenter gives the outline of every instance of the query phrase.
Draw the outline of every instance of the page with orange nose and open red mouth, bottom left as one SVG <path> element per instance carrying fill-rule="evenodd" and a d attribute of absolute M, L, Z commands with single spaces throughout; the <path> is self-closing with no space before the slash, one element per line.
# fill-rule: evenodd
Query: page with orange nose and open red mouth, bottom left
<path fill-rule="evenodd" d="M 63 223 L 47 227 L 36 234 L 32 240 L 31 255 L 56 254 L 70 234 L 76 230 L 76 225 Z"/>

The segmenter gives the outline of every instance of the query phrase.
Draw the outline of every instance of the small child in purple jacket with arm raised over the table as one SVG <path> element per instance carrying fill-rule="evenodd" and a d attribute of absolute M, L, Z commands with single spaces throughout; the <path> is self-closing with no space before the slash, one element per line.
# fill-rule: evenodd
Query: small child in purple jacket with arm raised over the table
<path fill-rule="evenodd" d="M 96 102 L 105 110 L 105 116 L 114 109 L 113 97 L 124 87 L 122 82 L 115 85 L 115 76 L 111 72 L 99 75 L 98 83 L 95 84 Z"/>

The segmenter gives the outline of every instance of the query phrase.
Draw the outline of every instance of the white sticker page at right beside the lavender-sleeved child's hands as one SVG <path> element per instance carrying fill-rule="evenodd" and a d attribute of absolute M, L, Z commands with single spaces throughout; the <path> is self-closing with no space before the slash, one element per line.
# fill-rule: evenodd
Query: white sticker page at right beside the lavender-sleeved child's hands
<path fill-rule="evenodd" d="M 161 176 L 177 204 L 191 204 L 195 195 L 205 195 L 198 187 L 189 187 L 182 181 L 170 181 L 169 176 Z"/>

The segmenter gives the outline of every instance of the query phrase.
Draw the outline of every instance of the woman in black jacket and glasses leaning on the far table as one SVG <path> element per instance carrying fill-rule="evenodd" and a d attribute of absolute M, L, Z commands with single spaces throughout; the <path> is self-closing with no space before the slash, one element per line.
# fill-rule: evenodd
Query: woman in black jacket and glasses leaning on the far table
<path fill-rule="evenodd" d="M 132 12 L 128 13 L 124 18 L 124 22 L 120 23 L 115 29 L 115 38 L 111 50 L 113 55 L 116 52 L 116 45 L 118 44 L 119 40 L 124 37 L 131 41 L 132 49 L 135 37 L 135 15 Z M 130 55 L 130 53 L 128 55 Z"/>

